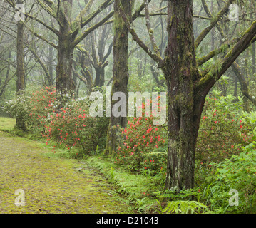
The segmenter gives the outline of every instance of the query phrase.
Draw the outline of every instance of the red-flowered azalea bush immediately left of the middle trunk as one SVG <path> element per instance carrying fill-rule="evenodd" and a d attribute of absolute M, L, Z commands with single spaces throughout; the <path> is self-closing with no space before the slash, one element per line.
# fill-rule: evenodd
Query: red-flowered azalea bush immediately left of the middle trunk
<path fill-rule="evenodd" d="M 80 154 L 90 154 L 106 138 L 108 118 L 94 118 L 88 113 L 88 99 L 73 100 L 70 105 L 61 108 L 58 113 L 50 115 L 51 123 L 46 126 L 45 133 L 48 143 L 51 140 L 64 145 L 67 150 L 78 148 Z"/>

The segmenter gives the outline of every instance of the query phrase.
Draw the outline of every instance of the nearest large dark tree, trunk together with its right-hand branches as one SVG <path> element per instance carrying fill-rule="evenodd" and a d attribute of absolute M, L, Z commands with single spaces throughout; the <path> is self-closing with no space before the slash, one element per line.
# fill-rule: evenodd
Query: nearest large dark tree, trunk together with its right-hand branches
<path fill-rule="evenodd" d="M 232 2 L 227 1 L 225 8 Z M 217 24 L 215 20 L 211 26 L 213 22 Z M 182 190 L 194 186 L 195 145 L 206 95 L 237 57 L 255 41 L 256 21 L 224 58 L 203 73 L 198 70 L 195 48 L 209 32 L 205 28 L 194 42 L 193 2 L 168 1 L 168 46 L 165 59 L 160 63 L 163 64 L 168 86 L 169 137 L 165 188 Z"/>

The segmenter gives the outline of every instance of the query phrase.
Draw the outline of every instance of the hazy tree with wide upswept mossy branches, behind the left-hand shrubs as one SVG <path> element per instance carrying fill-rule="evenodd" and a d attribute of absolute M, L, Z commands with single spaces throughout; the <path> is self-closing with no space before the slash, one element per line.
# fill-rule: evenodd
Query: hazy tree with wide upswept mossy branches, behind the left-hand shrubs
<path fill-rule="evenodd" d="M 12 7 L 15 7 L 15 4 L 11 0 L 6 0 Z M 38 32 L 34 31 L 29 26 L 26 28 L 37 36 L 41 38 L 46 43 L 53 46 L 57 49 L 57 66 L 56 66 L 56 89 L 58 91 L 74 90 L 75 85 L 72 78 L 72 68 L 73 68 L 73 51 L 74 48 L 80 43 L 83 38 L 86 38 L 88 34 L 94 31 L 96 28 L 101 26 L 104 22 L 113 16 L 113 11 L 105 16 L 100 21 L 96 21 L 94 24 L 91 21 L 98 16 L 98 14 L 106 9 L 113 3 L 113 0 L 103 1 L 103 4 L 98 6 L 96 10 L 91 9 L 91 6 L 95 4 L 94 0 L 87 2 L 86 6 L 77 14 L 75 19 L 72 19 L 72 9 L 73 1 L 72 0 L 43 0 L 37 1 L 39 6 L 48 13 L 53 19 L 58 23 L 58 28 L 53 27 L 52 25 L 43 22 L 37 16 L 25 13 L 30 19 L 34 19 L 43 25 L 49 31 L 56 35 L 58 43 L 55 44 L 54 41 L 49 41 L 46 37 L 41 36 Z M 88 14 L 88 9 L 91 9 L 91 12 Z M 88 24 L 91 23 L 91 26 Z M 86 26 L 88 28 L 84 29 Z M 82 31 L 83 30 L 83 31 Z"/>

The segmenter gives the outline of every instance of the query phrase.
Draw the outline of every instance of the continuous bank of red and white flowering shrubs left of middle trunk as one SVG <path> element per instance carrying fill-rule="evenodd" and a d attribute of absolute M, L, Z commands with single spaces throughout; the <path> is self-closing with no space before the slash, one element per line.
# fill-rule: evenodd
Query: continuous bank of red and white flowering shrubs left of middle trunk
<path fill-rule="evenodd" d="M 73 95 L 48 87 L 26 90 L 4 105 L 13 116 L 22 114 L 29 133 L 46 138 L 46 145 L 54 140 L 67 150 L 78 148 L 82 155 L 96 150 L 101 138 L 106 137 L 108 126 L 108 118 L 92 118 L 88 107 L 87 98 L 75 100 Z"/>

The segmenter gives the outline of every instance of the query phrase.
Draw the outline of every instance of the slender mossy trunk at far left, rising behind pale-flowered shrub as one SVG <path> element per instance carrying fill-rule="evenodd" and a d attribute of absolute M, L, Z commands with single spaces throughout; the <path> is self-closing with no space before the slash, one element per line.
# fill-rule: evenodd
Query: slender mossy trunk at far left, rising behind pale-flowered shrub
<path fill-rule="evenodd" d="M 18 4 L 21 2 L 18 1 Z M 24 22 L 17 21 L 17 68 L 16 68 L 16 95 L 22 95 L 25 90 L 25 70 L 24 70 Z M 23 113 L 16 116 L 16 128 L 26 131 Z"/>

